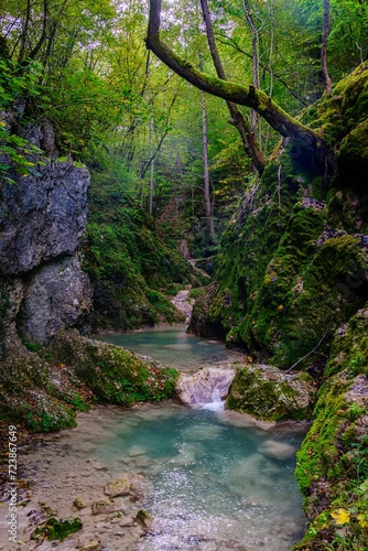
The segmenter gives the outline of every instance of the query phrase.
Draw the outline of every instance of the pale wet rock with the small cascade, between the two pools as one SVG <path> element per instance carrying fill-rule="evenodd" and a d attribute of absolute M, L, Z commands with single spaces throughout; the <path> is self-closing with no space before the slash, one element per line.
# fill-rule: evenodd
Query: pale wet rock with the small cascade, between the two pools
<path fill-rule="evenodd" d="M 187 404 L 225 400 L 235 369 L 207 367 L 194 375 L 181 375 L 176 386 L 178 398 Z"/>

